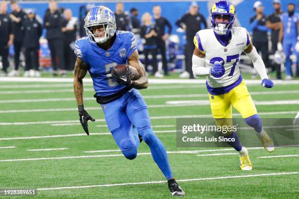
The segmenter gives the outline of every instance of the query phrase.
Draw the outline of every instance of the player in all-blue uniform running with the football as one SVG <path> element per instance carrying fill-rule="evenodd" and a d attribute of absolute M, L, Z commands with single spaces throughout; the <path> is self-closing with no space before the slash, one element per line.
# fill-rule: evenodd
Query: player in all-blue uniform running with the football
<path fill-rule="evenodd" d="M 147 105 L 138 91 L 148 87 L 148 78 L 138 58 L 135 35 L 116 31 L 115 16 L 105 6 L 96 6 L 87 13 L 85 30 L 87 36 L 75 42 L 74 92 L 86 134 L 87 121 L 95 120 L 83 105 L 83 78 L 88 71 L 107 126 L 124 156 L 136 158 L 141 137 L 149 145 L 154 161 L 168 180 L 172 196 L 185 195 L 173 178 L 165 147 L 151 128 Z M 125 77 L 111 73 L 113 67 L 119 64 L 136 68 L 140 78 L 131 80 L 128 66 Z"/>

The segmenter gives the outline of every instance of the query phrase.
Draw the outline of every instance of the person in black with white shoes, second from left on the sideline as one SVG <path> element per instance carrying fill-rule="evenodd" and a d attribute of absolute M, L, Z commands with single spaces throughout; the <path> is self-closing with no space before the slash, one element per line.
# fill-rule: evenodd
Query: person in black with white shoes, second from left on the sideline
<path fill-rule="evenodd" d="M 15 62 L 15 69 L 8 73 L 8 76 L 19 76 L 19 65 L 20 65 L 20 52 L 21 47 L 23 44 L 24 39 L 24 30 L 21 29 L 22 21 L 27 18 L 26 13 L 21 9 L 20 5 L 16 0 L 12 0 L 10 2 L 10 8 L 12 10 L 11 14 L 9 15 L 10 19 L 13 22 L 14 26 L 14 62 Z"/>

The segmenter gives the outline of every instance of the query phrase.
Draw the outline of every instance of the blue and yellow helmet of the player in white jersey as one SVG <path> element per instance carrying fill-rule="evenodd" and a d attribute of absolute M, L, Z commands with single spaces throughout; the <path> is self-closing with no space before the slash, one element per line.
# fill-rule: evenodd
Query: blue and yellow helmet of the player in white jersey
<path fill-rule="evenodd" d="M 215 17 L 227 19 L 228 22 L 215 22 Z M 210 12 L 211 26 L 218 35 L 225 35 L 234 25 L 236 18 L 235 6 L 227 0 L 217 1 Z"/>

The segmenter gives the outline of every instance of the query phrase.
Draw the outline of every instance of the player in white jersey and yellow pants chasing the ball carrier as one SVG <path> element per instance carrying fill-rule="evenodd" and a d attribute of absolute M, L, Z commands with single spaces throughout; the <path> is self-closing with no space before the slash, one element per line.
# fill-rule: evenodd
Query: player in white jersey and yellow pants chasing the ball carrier
<path fill-rule="evenodd" d="M 272 88 L 263 60 L 256 52 L 247 30 L 233 27 L 235 7 L 227 0 L 217 1 L 210 12 L 212 29 L 201 30 L 195 34 L 195 49 L 192 57 L 194 76 L 207 76 L 207 89 L 213 118 L 217 125 L 232 124 L 232 106 L 242 115 L 245 122 L 253 127 L 256 136 L 268 152 L 274 151 L 272 139 L 262 129 L 262 122 L 256 106 L 242 79 L 238 61 L 242 51 L 252 60 L 261 78 L 261 85 Z M 248 150 L 243 147 L 235 132 L 225 134 L 235 141 L 229 145 L 239 152 L 240 169 L 252 170 Z"/>

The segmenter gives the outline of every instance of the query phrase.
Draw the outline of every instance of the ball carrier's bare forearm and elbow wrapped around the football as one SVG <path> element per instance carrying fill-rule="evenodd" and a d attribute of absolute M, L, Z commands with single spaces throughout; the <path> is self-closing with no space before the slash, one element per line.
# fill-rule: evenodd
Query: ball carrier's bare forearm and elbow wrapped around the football
<path fill-rule="evenodd" d="M 135 50 L 132 55 L 128 58 L 128 64 L 136 68 L 139 73 L 139 79 L 132 81 L 133 88 L 136 89 L 145 89 L 149 86 L 149 80 L 147 77 L 147 73 L 144 69 L 143 64 L 139 60 L 138 51 Z"/>

